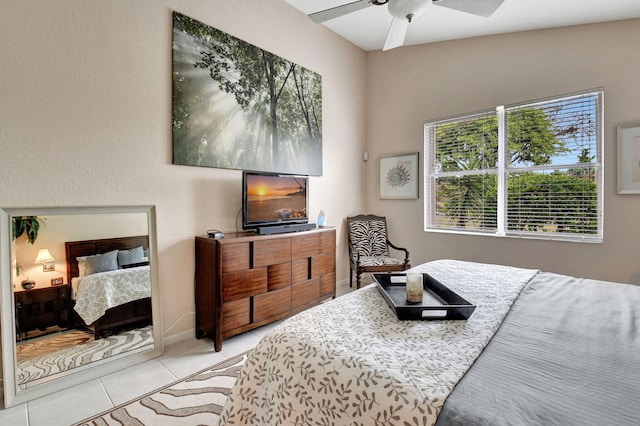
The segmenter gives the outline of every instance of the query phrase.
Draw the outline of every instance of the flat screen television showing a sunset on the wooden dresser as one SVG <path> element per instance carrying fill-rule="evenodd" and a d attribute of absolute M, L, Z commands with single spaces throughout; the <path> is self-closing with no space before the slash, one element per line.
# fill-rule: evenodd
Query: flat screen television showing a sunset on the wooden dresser
<path fill-rule="evenodd" d="M 242 173 L 242 228 L 306 224 L 309 177 L 287 173 Z"/>

